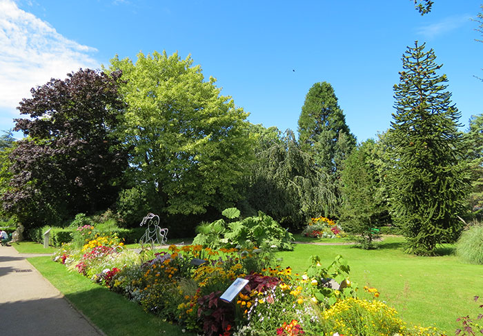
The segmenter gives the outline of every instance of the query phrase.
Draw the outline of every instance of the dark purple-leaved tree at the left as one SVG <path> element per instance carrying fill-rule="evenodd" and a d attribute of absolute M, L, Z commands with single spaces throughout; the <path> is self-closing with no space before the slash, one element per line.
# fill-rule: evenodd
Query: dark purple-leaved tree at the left
<path fill-rule="evenodd" d="M 112 205 L 127 166 L 115 130 L 125 104 L 121 72 L 79 70 L 33 88 L 14 130 L 26 138 L 10 152 L 10 186 L 3 208 L 23 224 L 56 223 Z"/>

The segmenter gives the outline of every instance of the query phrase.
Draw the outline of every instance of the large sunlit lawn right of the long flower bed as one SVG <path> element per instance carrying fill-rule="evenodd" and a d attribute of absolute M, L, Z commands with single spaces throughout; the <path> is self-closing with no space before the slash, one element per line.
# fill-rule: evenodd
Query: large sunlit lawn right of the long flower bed
<path fill-rule="evenodd" d="M 436 326 L 452 335 L 459 326 L 457 317 L 476 318 L 483 313 L 473 302 L 475 295 L 483 296 L 483 266 L 463 264 L 451 254 L 453 246 L 440 250 L 440 257 L 406 255 L 403 241 L 402 237 L 386 237 L 377 250 L 297 244 L 294 251 L 278 255 L 294 273 L 306 270 L 311 255 L 319 255 L 323 266 L 342 255 L 351 266 L 351 280 L 361 289 L 377 288 L 380 299 L 396 308 L 409 325 Z"/>

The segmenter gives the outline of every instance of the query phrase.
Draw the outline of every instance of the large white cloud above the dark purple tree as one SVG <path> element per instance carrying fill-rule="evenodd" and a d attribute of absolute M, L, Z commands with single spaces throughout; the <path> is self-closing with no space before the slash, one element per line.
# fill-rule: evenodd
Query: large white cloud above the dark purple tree
<path fill-rule="evenodd" d="M 90 56 L 95 48 L 66 39 L 12 0 L 0 0 L 0 50 L 0 108 L 12 117 L 19 101 L 31 97 L 30 88 L 79 68 L 99 68 Z"/>

